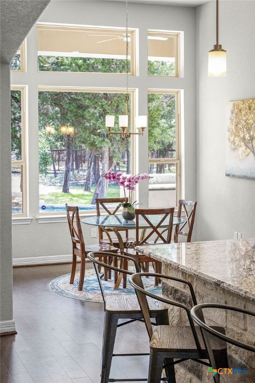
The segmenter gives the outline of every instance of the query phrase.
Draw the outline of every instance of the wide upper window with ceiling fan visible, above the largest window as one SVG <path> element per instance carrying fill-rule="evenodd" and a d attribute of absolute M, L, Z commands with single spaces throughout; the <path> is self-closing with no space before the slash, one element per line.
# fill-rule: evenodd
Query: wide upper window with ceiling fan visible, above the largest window
<path fill-rule="evenodd" d="M 37 26 L 40 71 L 127 73 L 126 30 Z M 128 72 L 134 74 L 134 31 L 128 30 Z"/>

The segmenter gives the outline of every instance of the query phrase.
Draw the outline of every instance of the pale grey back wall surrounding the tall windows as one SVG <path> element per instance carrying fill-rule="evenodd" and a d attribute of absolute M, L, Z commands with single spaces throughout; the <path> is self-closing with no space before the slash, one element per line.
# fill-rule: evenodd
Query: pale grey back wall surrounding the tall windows
<path fill-rule="evenodd" d="M 85 25 L 120 26 L 126 25 L 124 2 L 93 1 L 52 1 L 40 16 L 41 22 L 56 22 Z M 195 98 L 195 8 L 171 7 L 144 4 L 128 4 L 128 26 L 139 28 L 139 77 L 129 77 L 129 87 L 139 89 L 139 114 L 147 113 L 147 89 L 184 90 L 184 121 L 182 134 L 183 185 L 182 197 L 196 198 L 196 98 Z M 185 76 L 184 78 L 147 76 L 147 29 L 184 31 Z M 27 73 L 11 73 L 11 83 L 28 85 L 29 101 L 29 216 L 30 224 L 13 225 L 13 258 L 47 257 L 70 254 L 67 222 L 38 223 L 38 85 L 124 87 L 123 76 L 109 76 L 79 73 L 38 73 L 36 52 L 36 27 L 27 37 Z M 185 134 L 184 134 L 185 133 Z M 147 172 L 147 132 L 139 137 L 140 172 Z M 148 192 L 139 188 L 139 201 L 146 205 Z M 85 226 L 85 225 L 84 225 Z M 91 241 L 89 231 L 84 227 L 85 240 Z"/>

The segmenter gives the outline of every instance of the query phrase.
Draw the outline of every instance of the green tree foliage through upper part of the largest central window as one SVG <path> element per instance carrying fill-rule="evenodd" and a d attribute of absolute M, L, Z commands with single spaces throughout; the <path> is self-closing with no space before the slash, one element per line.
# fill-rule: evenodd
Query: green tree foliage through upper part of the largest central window
<path fill-rule="evenodd" d="M 73 150 L 83 147 L 99 154 L 103 146 L 109 146 L 111 156 L 121 161 L 128 140 L 108 137 L 105 115 L 125 113 L 125 102 L 125 94 L 120 93 L 39 92 L 39 130 L 48 124 L 55 127 L 51 146 L 63 149 L 65 142 L 59 126 L 72 125 L 75 128 Z"/>

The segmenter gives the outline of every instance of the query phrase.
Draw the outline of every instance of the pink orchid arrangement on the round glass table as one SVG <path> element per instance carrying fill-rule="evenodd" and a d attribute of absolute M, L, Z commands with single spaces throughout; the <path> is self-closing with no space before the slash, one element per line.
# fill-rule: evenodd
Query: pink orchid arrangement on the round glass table
<path fill-rule="evenodd" d="M 135 185 L 138 184 L 141 180 L 148 180 L 149 178 L 152 178 L 147 175 L 147 173 L 141 173 L 137 176 L 128 176 L 124 175 L 122 172 L 115 173 L 113 171 L 110 171 L 106 174 L 103 174 L 103 177 L 108 181 L 115 181 L 118 182 L 120 186 L 124 189 L 124 195 L 127 196 L 126 190 L 128 190 L 128 201 L 129 202 L 123 202 L 123 207 L 128 208 L 129 213 L 134 213 L 134 204 L 136 201 L 132 202 L 132 192 L 135 190 Z"/>

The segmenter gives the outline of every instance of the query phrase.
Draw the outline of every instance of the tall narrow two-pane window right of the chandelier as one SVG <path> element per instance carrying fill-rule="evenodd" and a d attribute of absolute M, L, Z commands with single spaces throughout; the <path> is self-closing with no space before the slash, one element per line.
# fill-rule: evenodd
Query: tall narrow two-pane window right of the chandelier
<path fill-rule="evenodd" d="M 179 93 L 148 92 L 149 207 L 177 206 L 180 197 Z"/>

